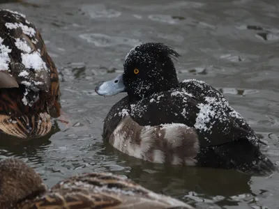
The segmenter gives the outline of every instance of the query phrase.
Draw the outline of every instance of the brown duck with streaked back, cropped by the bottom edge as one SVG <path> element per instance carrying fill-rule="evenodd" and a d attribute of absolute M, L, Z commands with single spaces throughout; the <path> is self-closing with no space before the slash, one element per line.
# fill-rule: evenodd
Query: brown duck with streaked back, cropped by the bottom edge
<path fill-rule="evenodd" d="M 80 174 L 48 190 L 38 173 L 21 160 L 2 160 L 0 173 L 1 209 L 194 209 L 112 173 Z"/>

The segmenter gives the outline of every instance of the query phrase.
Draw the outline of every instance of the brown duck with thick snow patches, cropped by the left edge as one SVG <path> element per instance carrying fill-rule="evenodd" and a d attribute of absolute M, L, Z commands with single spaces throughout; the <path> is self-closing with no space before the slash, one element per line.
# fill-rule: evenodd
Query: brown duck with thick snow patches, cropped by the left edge
<path fill-rule="evenodd" d="M 0 10 L 0 130 L 19 138 L 50 132 L 59 116 L 59 77 L 36 27 L 20 13 Z"/>

